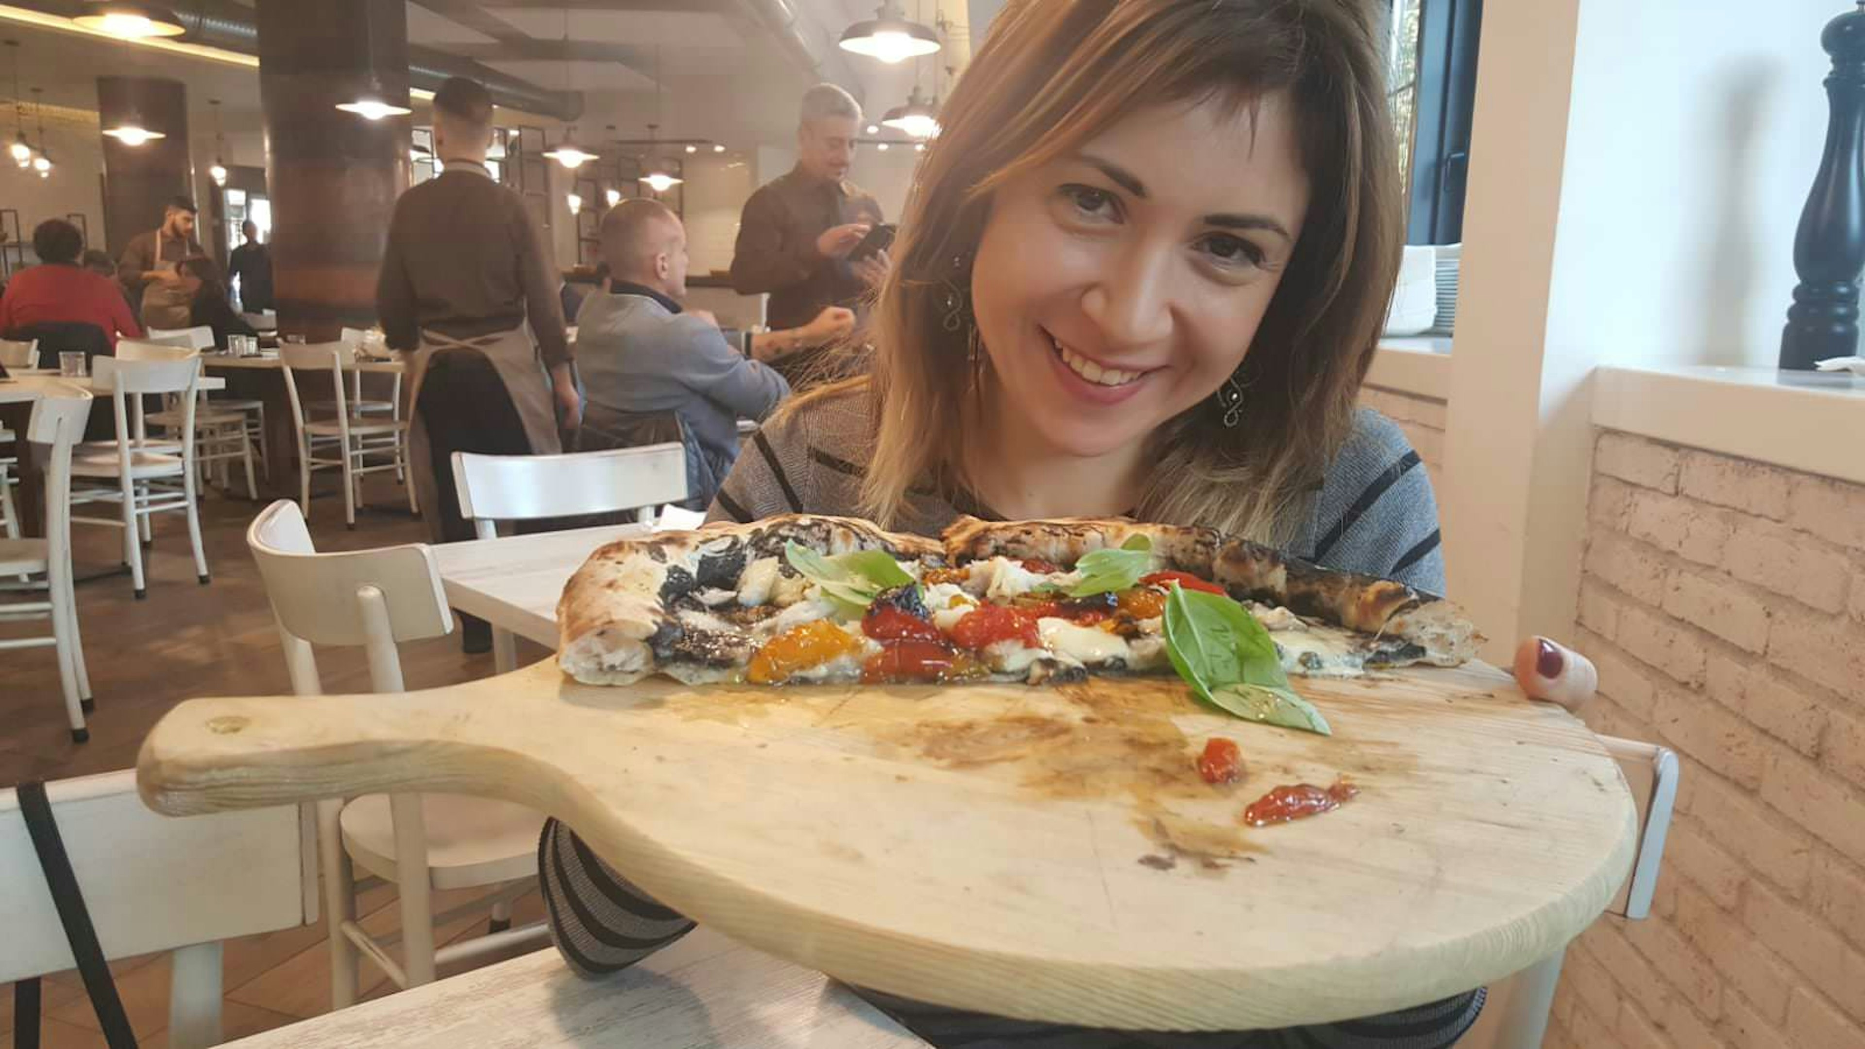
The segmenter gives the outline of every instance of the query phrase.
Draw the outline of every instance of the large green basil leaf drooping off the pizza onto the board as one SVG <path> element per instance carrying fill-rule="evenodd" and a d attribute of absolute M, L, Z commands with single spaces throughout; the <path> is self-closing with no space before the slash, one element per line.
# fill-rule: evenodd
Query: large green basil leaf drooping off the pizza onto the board
<path fill-rule="evenodd" d="M 1250 720 L 1333 734 L 1289 687 L 1270 633 L 1236 601 L 1173 584 L 1164 627 L 1166 657 L 1197 698 Z"/>

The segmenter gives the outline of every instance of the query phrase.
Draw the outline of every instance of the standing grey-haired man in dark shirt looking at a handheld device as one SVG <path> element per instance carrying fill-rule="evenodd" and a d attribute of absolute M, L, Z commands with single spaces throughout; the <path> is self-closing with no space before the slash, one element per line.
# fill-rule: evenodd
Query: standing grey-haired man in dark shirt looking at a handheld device
<path fill-rule="evenodd" d="M 796 166 L 744 202 L 731 286 L 740 295 L 770 293 L 772 329 L 809 323 L 824 306 L 860 304 L 888 276 L 888 252 L 849 254 L 880 220 L 880 203 L 849 181 L 862 106 L 836 84 L 804 91 L 796 125 Z M 815 353 L 778 368 L 794 383 Z"/>

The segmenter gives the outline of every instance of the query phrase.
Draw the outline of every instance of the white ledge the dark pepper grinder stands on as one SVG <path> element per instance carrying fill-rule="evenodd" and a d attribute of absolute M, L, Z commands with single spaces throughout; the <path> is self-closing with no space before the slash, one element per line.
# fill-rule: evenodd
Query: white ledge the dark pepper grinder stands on
<path fill-rule="evenodd" d="M 1598 368 L 1593 424 L 1865 483 L 1865 379 L 1774 368 Z"/>

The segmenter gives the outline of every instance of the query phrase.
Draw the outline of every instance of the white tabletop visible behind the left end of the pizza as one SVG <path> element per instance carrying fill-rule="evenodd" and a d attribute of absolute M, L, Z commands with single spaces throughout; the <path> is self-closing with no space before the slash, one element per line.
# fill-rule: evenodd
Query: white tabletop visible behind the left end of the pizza
<path fill-rule="evenodd" d="M 558 597 L 591 551 L 647 536 L 647 524 L 440 543 L 435 562 L 448 605 L 546 648 L 558 646 Z"/>

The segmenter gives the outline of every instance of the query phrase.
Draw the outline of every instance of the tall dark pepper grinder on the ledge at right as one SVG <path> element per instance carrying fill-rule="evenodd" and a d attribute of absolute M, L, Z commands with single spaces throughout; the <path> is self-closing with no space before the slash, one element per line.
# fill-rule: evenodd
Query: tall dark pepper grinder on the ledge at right
<path fill-rule="evenodd" d="M 1859 271 L 1865 271 L 1865 0 L 1820 32 L 1833 56 L 1826 77 L 1826 155 L 1794 233 L 1794 304 L 1781 330 L 1781 368 L 1852 357 L 1859 343 Z"/>

